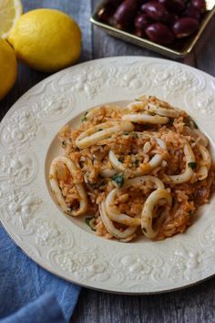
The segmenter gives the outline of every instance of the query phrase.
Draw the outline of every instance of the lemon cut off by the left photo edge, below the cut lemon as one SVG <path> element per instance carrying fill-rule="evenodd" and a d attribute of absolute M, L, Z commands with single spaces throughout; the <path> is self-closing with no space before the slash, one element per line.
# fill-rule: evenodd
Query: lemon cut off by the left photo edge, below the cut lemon
<path fill-rule="evenodd" d="M 14 49 L 0 38 L 0 99 L 14 86 L 17 62 Z"/>

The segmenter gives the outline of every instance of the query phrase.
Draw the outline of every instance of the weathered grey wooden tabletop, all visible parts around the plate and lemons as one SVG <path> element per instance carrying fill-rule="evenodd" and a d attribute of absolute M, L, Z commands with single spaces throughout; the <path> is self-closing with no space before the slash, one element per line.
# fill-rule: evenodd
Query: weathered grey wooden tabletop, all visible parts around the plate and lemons
<path fill-rule="evenodd" d="M 89 16 L 99 0 L 23 0 L 24 11 L 53 7 L 74 16 L 82 29 L 83 50 L 80 61 L 100 57 L 139 55 L 160 57 L 107 36 L 91 26 Z M 198 45 L 181 62 L 215 76 L 215 17 L 201 36 Z M 0 102 L 0 118 L 27 89 L 47 74 L 19 64 L 15 88 Z M 177 292 L 154 296 L 119 296 L 83 288 L 72 323 L 195 323 L 215 322 L 215 278 Z"/>

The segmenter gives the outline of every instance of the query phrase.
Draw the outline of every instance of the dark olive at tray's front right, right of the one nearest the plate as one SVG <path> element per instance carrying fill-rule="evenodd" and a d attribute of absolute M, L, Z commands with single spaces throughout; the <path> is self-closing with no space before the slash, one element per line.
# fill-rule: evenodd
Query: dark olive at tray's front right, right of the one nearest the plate
<path fill-rule="evenodd" d="M 199 27 L 199 21 L 194 18 L 182 17 L 175 21 L 172 30 L 177 38 L 191 35 Z"/>

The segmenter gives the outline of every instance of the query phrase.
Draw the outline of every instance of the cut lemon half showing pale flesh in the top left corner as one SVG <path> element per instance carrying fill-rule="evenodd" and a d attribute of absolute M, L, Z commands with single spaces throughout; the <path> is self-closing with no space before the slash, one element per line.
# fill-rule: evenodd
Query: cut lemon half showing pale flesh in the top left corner
<path fill-rule="evenodd" d="M 16 21 L 22 15 L 22 3 L 20 0 L 0 1 L 0 37 L 6 38 Z"/>

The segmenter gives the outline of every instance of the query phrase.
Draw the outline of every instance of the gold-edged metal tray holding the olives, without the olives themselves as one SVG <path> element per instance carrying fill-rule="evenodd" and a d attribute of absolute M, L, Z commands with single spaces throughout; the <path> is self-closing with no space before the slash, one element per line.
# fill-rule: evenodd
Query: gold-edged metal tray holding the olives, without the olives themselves
<path fill-rule="evenodd" d="M 100 5 L 97 6 L 95 13 L 91 16 L 90 21 L 107 31 L 107 34 L 111 36 L 116 36 L 120 39 L 128 41 L 130 43 L 136 44 L 140 47 L 144 47 L 155 52 L 158 52 L 161 55 L 171 57 L 174 59 L 186 57 L 192 48 L 197 43 L 200 35 L 202 34 L 204 28 L 210 22 L 210 18 L 215 13 L 215 0 L 206 0 L 206 13 L 204 14 L 203 19 L 200 22 L 199 29 L 192 35 L 175 40 L 172 44 L 169 45 L 160 45 L 158 43 L 152 42 L 148 40 L 146 37 L 136 36 L 132 33 L 131 30 L 121 30 L 112 26 L 101 19 L 99 19 L 99 12 L 102 10 L 104 5 L 107 3 L 106 1 L 102 1 Z"/>

